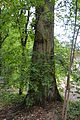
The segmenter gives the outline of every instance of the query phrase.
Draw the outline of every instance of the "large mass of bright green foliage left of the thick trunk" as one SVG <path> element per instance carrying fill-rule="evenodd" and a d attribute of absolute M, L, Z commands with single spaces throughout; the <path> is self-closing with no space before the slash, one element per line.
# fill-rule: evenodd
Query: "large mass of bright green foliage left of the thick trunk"
<path fill-rule="evenodd" d="M 27 1 L 28 2 L 28 1 Z M 29 3 L 24 1 L 4 1 L 1 10 L 1 37 L 2 40 L 8 33 L 8 37 L 2 44 L 2 78 L 7 86 L 24 88 L 30 77 L 30 61 L 33 47 L 34 32 L 32 27 L 28 30 L 27 45 L 24 49 L 21 45 L 21 37 L 25 37 L 23 31 L 27 18 L 26 10 Z M 26 8 L 27 6 L 27 8 Z M 20 11 L 23 14 L 20 16 Z M 24 56 L 23 54 L 24 49 Z M 25 63 L 24 63 L 25 62 Z"/>

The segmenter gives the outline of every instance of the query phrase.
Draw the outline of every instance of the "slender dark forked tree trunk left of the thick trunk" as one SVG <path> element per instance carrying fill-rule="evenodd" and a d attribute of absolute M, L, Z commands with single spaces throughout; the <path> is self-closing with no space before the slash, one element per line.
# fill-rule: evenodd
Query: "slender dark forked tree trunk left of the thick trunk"
<path fill-rule="evenodd" d="M 21 9 L 21 13 L 20 16 L 22 15 L 23 10 Z M 25 68 L 25 64 L 26 64 L 26 58 L 25 58 L 25 49 L 26 49 L 26 44 L 27 44 L 27 38 L 28 38 L 28 23 L 29 23 L 29 17 L 30 17 L 30 10 L 28 10 L 28 15 L 27 15 L 27 21 L 25 24 L 25 29 L 23 31 L 23 33 L 25 34 L 25 37 L 21 37 L 21 45 L 22 45 L 22 65 L 21 65 L 21 80 L 20 80 L 20 88 L 19 88 L 19 95 L 22 95 L 23 92 L 23 86 L 24 86 L 24 68 Z M 17 22 L 19 23 L 19 20 L 17 19 Z M 19 31 L 21 33 L 21 28 L 20 28 L 20 24 L 19 24 Z"/>

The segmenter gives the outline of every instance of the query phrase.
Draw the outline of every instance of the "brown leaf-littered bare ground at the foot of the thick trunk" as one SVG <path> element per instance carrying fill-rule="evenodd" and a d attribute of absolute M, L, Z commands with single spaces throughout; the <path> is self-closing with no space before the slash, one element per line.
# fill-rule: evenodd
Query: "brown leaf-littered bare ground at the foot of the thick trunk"
<path fill-rule="evenodd" d="M 0 110 L 0 120 L 61 120 L 62 103 L 53 102 L 46 107 L 8 106 Z"/>

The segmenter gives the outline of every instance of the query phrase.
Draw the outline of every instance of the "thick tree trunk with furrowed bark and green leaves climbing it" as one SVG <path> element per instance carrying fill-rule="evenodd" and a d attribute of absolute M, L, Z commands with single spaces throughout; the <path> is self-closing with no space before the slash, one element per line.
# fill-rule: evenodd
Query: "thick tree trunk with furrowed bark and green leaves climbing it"
<path fill-rule="evenodd" d="M 29 95 L 36 103 L 61 100 L 55 79 L 54 63 L 54 5 L 36 8 L 35 41 L 32 56 Z"/>

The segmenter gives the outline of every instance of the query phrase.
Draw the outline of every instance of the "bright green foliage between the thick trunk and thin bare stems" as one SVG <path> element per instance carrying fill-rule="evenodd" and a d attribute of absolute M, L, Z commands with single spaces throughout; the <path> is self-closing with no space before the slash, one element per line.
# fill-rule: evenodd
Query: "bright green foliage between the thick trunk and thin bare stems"
<path fill-rule="evenodd" d="M 70 48 L 55 40 L 55 72 L 56 77 L 65 77 L 68 72 Z"/>

